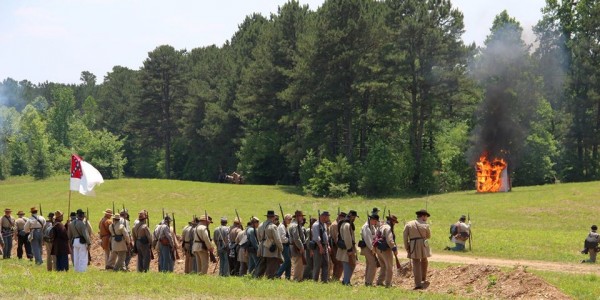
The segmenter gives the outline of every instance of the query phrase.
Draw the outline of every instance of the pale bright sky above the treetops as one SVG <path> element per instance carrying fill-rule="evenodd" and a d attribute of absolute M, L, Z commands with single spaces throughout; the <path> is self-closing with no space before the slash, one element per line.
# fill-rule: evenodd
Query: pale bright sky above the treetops
<path fill-rule="evenodd" d="M 268 16 L 286 0 L 0 0 L 0 80 L 101 82 L 115 65 L 139 69 L 159 45 L 222 45 L 254 12 Z M 300 0 L 315 10 L 323 0 Z M 483 43 L 494 16 L 508 10 L 534 41 L 544 0 L 453 0 L 465 15 L 467 43 Z"/>

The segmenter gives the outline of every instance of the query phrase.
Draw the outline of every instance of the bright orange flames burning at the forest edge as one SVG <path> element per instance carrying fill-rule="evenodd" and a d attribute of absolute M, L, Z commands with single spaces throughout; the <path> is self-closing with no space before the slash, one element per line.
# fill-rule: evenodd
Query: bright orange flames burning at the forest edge
<path fill-rule="evenodd" d="M 477 169 L 477 192 L 507 192 L 510 189 L 506 161 L 502 158 L 488 160 L 487 152 L 484 152 L 476 164 Z"/>

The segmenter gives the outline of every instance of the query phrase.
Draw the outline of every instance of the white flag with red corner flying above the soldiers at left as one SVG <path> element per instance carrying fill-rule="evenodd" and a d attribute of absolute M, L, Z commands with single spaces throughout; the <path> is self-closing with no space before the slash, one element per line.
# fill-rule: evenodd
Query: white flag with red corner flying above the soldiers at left
<path fill-rule="evenodd" d="M 94 187 L 104 182 L 102 174 L 81 157 L 71 155 L 71 191 L 94 196 Z"/>

